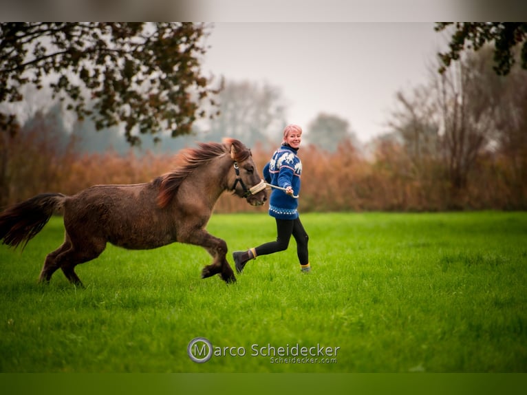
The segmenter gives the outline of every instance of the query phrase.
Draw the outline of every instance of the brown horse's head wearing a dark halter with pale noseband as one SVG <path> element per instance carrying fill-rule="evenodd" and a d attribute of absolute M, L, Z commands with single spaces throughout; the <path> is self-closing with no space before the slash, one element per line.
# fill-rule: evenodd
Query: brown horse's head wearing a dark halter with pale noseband
<path fill-rule="evenodd" d="M 267 200 L 266 184 L 261 179 L 250 149 L 239 140 L 225 139 L 224 144 L 230 145 L 230 158 L 233 160 L 234 181 L 233 193 L 245 197 L 252 206 L 261 206 Z"/>

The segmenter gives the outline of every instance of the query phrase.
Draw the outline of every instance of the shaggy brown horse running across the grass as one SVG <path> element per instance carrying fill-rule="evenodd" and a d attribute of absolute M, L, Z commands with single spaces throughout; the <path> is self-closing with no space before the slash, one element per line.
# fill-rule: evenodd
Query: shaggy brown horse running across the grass
<path fill-rule="evenodd" d="M 96 259 L 107 243 L 132 250 L 158 248 L 173 242 L 202 246 L 213 263 L 202 278 L 219 274 L 236 281 L 226 259 L 227 244 L 206 231 L 215 202 L 224 191 L 252 206 L 267 200 L 264 180 L 242 142 L 224 138 L 200 142 L 180 151 L 181 164 L 171 173 L 143 184 L 95 185 L 76 195 L 41 193 L 0 213 L 0 239 L 22 250 L 55 214 L 62 214 L 64 242 L 45 257 L 39 282 L 49 283 L 61 268 L 74 285 L 83 287 L 75 266 Z"/>

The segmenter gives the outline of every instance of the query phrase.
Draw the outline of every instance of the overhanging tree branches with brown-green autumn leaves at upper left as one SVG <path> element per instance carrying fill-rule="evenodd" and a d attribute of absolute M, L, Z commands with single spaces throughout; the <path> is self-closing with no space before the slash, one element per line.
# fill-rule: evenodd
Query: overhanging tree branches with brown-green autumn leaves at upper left
<path fill-rule="evenodd" d="M 23 100 L 26 84 L 49 85 L 96 129 L 124 123 L 131 145 L 136 131 L 189 134 L 218 92 L 201 74 L 205 35 L 195 23 L 1 23 L 0 104 Z M 16 133 L 17 116 L 2 108 L 0 130 Z"/>

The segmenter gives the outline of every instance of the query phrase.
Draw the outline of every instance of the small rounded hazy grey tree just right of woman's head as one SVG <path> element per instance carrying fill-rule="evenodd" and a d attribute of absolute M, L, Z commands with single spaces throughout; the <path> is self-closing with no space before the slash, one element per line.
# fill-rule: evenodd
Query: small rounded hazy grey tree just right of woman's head
<path fill-rule="evenodd" d="M 349 128 L 349 122 L 331 114 L 319 114 L 308 125 L 307 132 L 310 140 L 325 149 L 334 152 L 343 140 L 351 140 L 357 145 L 355 134 Z"/>

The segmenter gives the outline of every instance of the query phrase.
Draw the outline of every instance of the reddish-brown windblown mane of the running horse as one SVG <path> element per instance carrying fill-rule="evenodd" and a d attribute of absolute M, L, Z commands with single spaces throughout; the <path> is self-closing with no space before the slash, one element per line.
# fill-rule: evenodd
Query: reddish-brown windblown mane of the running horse
<path fill-rule="evenodd" d="M 197 148 L 186 148 L 180 151 L 178 158 L 181 161 L 179 167 L 171 173 L 161 175 L 155 180 L 159 184 L 158 206 L 166 207 L 175 194 L 181 183 L 204 162 L 217 158 L 225 153 L 233 153 L 233 161 L 246 160 L 250 155 L 250 150 L 239 140 L 234 138 L 224 138 L 219 142 L 200 142 Z M 233 151 L 231 151 L 233 147 Z"/>

